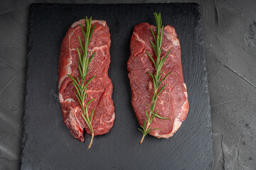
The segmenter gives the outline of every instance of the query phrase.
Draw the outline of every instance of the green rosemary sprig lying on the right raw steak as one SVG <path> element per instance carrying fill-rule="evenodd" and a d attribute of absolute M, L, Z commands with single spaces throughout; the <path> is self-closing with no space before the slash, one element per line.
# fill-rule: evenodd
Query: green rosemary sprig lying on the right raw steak
<path fill-rule="evenodd" d="M 144 137 L 151 132 L 152 130 L 156 130 L 159 128 L 154 128 L 151 129 L 150 124 L 152 123 L 153 119 L 156 118 L 161 118 L 161 119 L 169 119 L 169 118 L 163 118 L 160 115 L 157 114 L 158 109 L 156 109 L 156 99 L 159 96 L 159 94 L 161 94 L 161 91 L 164 90 L 164 88 L 167 86 L 167 84 L 165 84 L 164 86 L 161 87 L 161 89 L 159 89 L 159 87 L 161 86 L 161 83 L 166 79 L 166 77 L 171 74 L 171 72 L 169 72 L 168 74 L 166 74 L 166 76 L 164 78 L 161 79 L 161 76 L 164 74 L 164 72 L 161 72 L 161 68 L 164 65 L 164 62 L 166 61 L 167 57 L 169 56 L 169 53 L 171 52 L 171 50 L 169 50 L 169 52 L 166 54 L 165 57 L 161 57 L 161 43 L 163 40 L 163 35 L 164 35 L 164 26 L 161 26 L 161 13 L 157 14 L 154 13 L 154 16 L 156 18 L 156 35 L 154 35 L 154 32 L 151 28 L 151 33 L 154 37 L 154 41 L 155 44 L 150 40 L 150 43 L 153 47 L 154 53 L 156 55 L 156 61 L 154 61 L 153 57 L 151 57 L 151 55 L 149 55 L 148 52 L 146 52 L 146 55 L 149 56 L 149 58 L 151 59 L 151 61 L 154 64 L 154 67 L 156 69 L 155 74 L 148 72 L 149 75 L 151 76 L 151 78 L 153 79 L 153 84 L 154 84 L 154 96 L 152 97 L 152 101 L 151 101 L 151 106 L 147 105 L 149 107 L 149 111 L 146 111 L 146 121 L 144 121 L 144 125 L 142 127 L 142 129 L 139 128 L 140 131 L 142 131 L 142 140 L 140 142 L 140 144 L 143 142 Z M 155 111 L 156 109 L 156 111 Z"/>

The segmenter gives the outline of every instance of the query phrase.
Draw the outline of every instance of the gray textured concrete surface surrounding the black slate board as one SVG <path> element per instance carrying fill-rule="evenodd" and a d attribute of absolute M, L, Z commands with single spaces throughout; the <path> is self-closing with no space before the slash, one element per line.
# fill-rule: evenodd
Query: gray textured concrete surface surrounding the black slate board
<path fill-rule="evenodd" d="M 212 109 L 213 169 L 256 169 L 256 1 L 0 1 L 0 169 L 19 169 L 32 3 L 197 2 Z"/>

